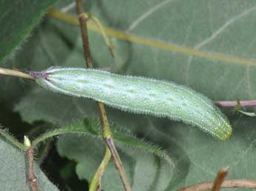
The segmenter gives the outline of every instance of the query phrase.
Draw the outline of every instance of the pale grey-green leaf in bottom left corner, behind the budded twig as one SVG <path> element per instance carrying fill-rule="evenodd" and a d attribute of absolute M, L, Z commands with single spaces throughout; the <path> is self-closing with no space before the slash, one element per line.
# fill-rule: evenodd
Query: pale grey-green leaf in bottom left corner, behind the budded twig
<path fill-rule="evenodd" d="M 27 182 L 27 158 L 24 151 L 13 147 L 10 142 L 4 141 L 0 137 L 0 185 L 2 191 L 28 191 L 30 190 Z M 57 191 L 44 172 L 37 164 L 34 165 L 34 172 L 39 185 L 39 190 Z"/>

